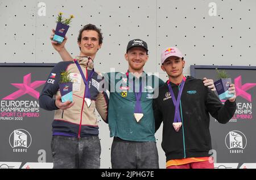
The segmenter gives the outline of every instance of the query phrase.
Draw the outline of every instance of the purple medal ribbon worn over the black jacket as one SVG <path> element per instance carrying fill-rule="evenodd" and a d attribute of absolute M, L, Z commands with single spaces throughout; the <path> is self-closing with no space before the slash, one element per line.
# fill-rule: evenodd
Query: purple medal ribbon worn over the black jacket
<path fill-rule="evenodd" d="M 170 83 L 170 81 L 168 81 L 168 88 L 171 93 L 172 102 L 174 102 L 174 105 L 175 105 L 174 122 L 181 122 L 179 105 L 180 105 L 180 98 L 181 98 L 181 93 L 183 91 L 184 84 L 185 84 L 185 82 L 184 82 L 184 80 L 182 80 L 182 82 L 180 84 L 179 94 L 178 94 L 177 100 L 176 100 L 176 98 L 174 96 L 174 91 L 172 91 L 171 83 Z"/>

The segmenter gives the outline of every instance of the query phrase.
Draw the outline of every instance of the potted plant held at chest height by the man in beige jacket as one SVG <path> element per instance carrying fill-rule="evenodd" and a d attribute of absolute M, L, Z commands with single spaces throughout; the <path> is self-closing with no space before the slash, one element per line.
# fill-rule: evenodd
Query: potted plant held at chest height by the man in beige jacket
<path fill-rule="evenodd" d="M 62 102 L 73 101 L 73 83 L 69 74 L 70 72 L 67 71 L 62 71 L 60 74 L 59 88 Z"/>

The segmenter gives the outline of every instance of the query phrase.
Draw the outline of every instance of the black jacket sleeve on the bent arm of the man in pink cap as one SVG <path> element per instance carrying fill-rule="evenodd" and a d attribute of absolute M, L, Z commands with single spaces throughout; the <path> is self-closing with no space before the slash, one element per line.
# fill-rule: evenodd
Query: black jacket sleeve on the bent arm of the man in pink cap
<path fill-rule="evenodd" d="M 207 110 L 220 123 L 227 123 L 233 117 L 236 112 L 237 104 L 236 101 L 230 102 L 229 100 L 225 101 L 223 105 L 218 98 L 218 96 L 211 91 L 209 88 L 207 89 L 207 97 L 206 97 L 206 106 Z"/>

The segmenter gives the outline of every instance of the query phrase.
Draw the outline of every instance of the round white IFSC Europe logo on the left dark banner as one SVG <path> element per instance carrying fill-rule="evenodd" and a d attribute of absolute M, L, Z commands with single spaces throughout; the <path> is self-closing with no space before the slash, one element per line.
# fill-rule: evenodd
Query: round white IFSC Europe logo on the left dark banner
<path fill-rule="evenodd" d="M 13 152 L 27 152 L 31 142 L 30 133 L 23 129 L 14 130 L 9 137 L 9 143 L 13 148 Z"/>

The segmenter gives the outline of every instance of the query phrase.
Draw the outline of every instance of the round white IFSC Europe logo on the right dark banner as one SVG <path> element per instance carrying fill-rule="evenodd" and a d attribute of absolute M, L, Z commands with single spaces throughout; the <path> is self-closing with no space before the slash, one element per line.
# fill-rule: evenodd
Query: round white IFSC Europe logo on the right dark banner
<path fill-rule="evenodd" d="M 247 139 L 241 131 L 230 131 L 226 135 L 225 143 L 229 153 L 243 153 L 243 149 L 247 145 Z"/>

